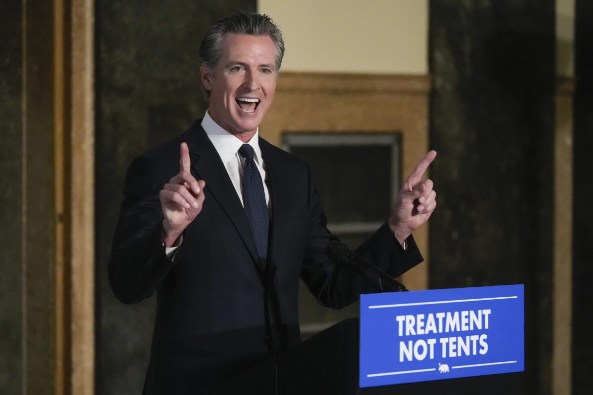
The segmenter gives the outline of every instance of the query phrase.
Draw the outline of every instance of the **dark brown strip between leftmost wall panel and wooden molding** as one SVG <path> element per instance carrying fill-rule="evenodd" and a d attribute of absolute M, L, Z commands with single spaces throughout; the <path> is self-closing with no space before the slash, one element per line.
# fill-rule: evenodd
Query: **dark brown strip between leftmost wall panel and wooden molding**
<path fill-rule="evenodd" d="M 56 339 L 54 9 L 45 0 L 28 0 L 24 5 L 24 393 L 49 394 L 55 384 Z"/>

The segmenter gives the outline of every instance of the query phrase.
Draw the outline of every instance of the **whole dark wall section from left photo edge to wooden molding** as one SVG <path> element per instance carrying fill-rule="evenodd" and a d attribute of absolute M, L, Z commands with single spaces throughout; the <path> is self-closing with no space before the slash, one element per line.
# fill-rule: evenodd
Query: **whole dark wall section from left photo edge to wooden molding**
<path fill-rule="evenodd" d="M 0 393 L 53 393 L 52 4 L 0 9 Z"/>

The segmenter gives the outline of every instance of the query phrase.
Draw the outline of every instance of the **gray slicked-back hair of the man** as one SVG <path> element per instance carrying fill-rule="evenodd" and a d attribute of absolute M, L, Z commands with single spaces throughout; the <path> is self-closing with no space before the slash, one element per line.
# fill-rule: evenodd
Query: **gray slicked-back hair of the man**
<path fill-rule="evenodd" d="M 284 38 L 278 25 L 272 21 L 268 15 L 256 14 L 255 12 L 237 12 L 226 18 L 222 18 L 213 24 L 202 39 L 198 54 L 202 65 L 206 66 L 210 73 L 216 68 L 218 60 L 222 55 L 222 38 L 227 33 L 237 33 L 253 36 L 270 36 L 276 50 L 276 73 L 282 65 L 284 56 Z M 210 92 L 202 86 L 206 97 L 210 97 Z"/>

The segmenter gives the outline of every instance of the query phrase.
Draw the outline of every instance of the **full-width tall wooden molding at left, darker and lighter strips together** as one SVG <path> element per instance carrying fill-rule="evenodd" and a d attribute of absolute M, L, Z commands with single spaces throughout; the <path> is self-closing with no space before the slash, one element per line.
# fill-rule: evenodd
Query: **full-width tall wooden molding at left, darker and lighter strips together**
<path fill-rule="evenodd" d="M 54 0 L 55 393 L 94 393 L 94 2 Z"/>

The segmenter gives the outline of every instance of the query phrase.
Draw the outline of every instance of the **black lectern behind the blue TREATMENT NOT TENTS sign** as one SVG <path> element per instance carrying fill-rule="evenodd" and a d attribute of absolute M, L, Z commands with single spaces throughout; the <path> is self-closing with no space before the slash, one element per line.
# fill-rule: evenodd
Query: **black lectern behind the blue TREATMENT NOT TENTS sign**
<path fill-rule="evenodd" d="M 519 395 L 522 373 L 452 378 L 384 387 L 358 387 L 358 319 L 329 327 L 278 357 L 226 383 L 216 395 Z"/>

